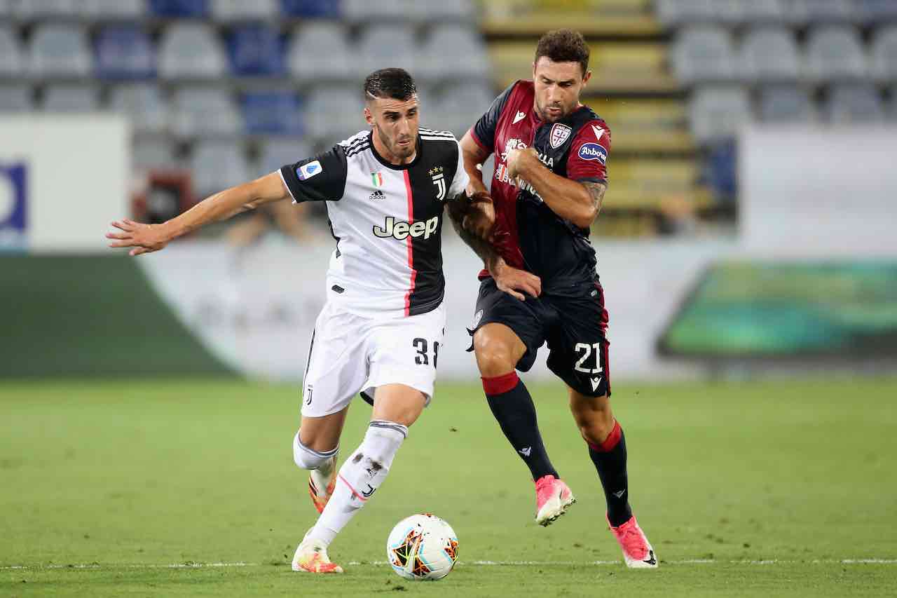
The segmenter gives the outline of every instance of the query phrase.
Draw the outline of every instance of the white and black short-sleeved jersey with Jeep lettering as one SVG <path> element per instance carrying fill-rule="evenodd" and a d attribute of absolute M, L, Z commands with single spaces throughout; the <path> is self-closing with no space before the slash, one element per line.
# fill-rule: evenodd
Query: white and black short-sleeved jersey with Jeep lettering
<path fill-rule="evenodd" d="M 336 239 L 328 300 L 387 316 L 439 306 L 443 203 L 468 182 L 454 135 L 421 128 L 414 161 L 397 166 L 365 130 L 280 172 L 294 201 L 327 204 Z"/>

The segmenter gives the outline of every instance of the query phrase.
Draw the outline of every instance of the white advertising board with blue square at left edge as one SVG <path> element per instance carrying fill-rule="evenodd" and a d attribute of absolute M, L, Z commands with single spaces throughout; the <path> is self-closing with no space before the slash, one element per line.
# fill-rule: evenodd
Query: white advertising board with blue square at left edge
<path fill-rule="evenodd" d="M 106 114 L 0 117 L 0 248 L 103 251 L 130 214 L 130 128 Z"/>

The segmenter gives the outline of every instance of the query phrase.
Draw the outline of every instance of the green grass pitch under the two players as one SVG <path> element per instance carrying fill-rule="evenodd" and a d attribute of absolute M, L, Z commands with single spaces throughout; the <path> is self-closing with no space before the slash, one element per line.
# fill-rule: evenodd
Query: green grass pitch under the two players
<path fill-rule="evenodd" d="M 897 379 L 617 383 L 657 571 L 623 567 L 561 384 L 531 390 L 579 499 L 569 514 L 533 522 L 532 482 L 482 391 L 442 383 L 331 546 L 345 575 L 317 577 L 289 567 L 316 515 L 292 463 L 296 387 L 0 383 L 0 595 L 897 593 Z M 369 416 L 353 403 L 346 452 Z M 458 534 L 459 564 L 440 582 L 384 564 L 392 525 L 416 512 Z"/>

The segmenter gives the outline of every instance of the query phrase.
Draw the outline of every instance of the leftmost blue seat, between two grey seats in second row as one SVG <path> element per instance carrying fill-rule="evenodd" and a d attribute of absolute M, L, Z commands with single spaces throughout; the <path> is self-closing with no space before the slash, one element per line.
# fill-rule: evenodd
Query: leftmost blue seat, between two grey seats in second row
<path fill-rule="evenodd" d="M 143 79 L 156 70 L 150 37 L 132 25 L 116 25 L 100 31 L 97 40 L 97 75 L 104 79 Z"/>

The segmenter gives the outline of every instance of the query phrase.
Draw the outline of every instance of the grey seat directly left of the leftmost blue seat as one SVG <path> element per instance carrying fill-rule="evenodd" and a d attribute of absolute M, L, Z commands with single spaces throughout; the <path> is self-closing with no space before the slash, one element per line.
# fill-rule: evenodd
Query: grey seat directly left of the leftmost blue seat
<path fill-rule="evenodd" d="M 43 24 L 29 45 L 31 75 L 83 77 L 91 72 L 87 34 L 77 25 Z"/>

